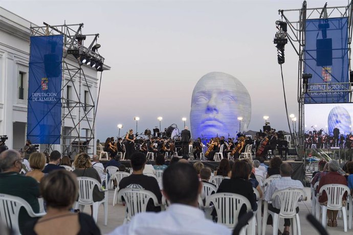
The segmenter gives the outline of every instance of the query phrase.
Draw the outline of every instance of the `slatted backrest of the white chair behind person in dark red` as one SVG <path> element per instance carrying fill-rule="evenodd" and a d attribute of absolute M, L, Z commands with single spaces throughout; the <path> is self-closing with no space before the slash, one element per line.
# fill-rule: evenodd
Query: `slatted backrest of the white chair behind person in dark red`
<path fill-rule="evenodd" d="M 327 194 L 327 209 L 337 210 L 342 208 L 342 198 L 347 192 L 350 193 L 349 187 L 343 184 L 326 184 L 320 188 L 319 194 L 323 191 Z"/>

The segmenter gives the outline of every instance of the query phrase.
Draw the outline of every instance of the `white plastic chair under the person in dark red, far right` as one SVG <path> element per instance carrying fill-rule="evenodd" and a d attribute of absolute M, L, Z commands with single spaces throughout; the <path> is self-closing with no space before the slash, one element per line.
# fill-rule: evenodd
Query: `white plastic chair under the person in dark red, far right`
<path fill-rule="evenodd" d="M 323 191 L 325 191 L 327 194 L 327 206 L 321 205 L 322 226 L 324 228 L 326 227 L 327 209 L 342 210 L 344 231 L 346 232 L 347 231 L 347 213 L 346 213 L 346 207 L 342 206 L 342 197 L 346 192 L 347 192 L 347 194 L 350 194 L 349 187 L 347 187 L 346 185 L 343 185 L 343 184 L 326 184 L 321 187 L 319 195 L 317 195 L 317 197 L 321 196 Z"/>

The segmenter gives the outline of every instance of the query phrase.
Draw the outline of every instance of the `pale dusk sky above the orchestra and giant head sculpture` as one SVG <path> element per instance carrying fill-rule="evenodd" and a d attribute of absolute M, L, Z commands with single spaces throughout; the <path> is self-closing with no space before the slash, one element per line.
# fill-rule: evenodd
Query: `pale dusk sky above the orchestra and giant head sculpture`
<path fill-rule="evenodd" d="M 346 6 L 348 1 L 307 1 L 307 7 Z M 203 75 L 224 72 L 239 79 L 252 102 L 250 130 L 263 115 L 288 131 L 280 66 L 273 44 L 278 9 L 300 9 L 302 1 L 0 1 L 0 6 L 41 26 L 84 23 L 99 33 L 99 53 L 112 67 L 103 72 L 97 137 L 175 123 L 189 125 L 191 95 Z M 299 12 L 286 14 L 297 21 Z M 90 43 L 90 42 L 89 42 Z M 296 44 L 297 46 L 297 44 Z M 298 116 L 298 56 L 285 46 L 283 76 L 289 113 Z M 236 130 L 234 130 L 235 132 Z M 195 136 L 197 137 L 197 136 Z"/>

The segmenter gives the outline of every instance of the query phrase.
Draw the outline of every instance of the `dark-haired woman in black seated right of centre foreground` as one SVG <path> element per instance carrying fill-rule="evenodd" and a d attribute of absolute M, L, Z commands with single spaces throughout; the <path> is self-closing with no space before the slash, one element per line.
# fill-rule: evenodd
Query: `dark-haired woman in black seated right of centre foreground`
<path fill-rule="evenodd" d="M 244 196 L 249 200 L 252 210 L 257 210 L 257 203 L 254 198 L 253 186 L 248 181 L 249 172 L 251 172 L 251 169 L 249 168 L 249 164 L 246 161 L 235 160 L 231 178 L 222 180 L 218 187 L 217 193 L 233 193 Z M 246 210 L 247 208 L 245 205 L 241 207 L 238 218 L 244 215 Z"/>

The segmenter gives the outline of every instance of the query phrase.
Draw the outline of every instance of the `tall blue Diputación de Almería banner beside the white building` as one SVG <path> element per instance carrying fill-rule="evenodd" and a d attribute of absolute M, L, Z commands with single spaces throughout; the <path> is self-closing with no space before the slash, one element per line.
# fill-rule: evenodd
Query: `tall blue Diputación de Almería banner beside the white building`
<path fill-rule="evenodd" d="M 60 144 L 63 36 L 31 37 L 27 139 Z"/>

